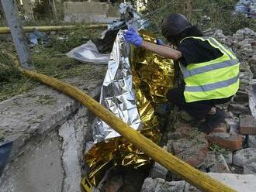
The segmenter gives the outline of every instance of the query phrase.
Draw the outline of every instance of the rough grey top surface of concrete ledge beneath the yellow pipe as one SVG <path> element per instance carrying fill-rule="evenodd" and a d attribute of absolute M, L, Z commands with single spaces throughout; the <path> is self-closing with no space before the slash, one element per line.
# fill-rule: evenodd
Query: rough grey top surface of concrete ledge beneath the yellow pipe
<path fill-rule="evenodd" d="M 99 94 L 102 80 L 83 80 L 79 77 L 66 80 L 86 90 L 92 97 Z M 13 141 L 11 160 L 19 155 L 19 149 L 31 135 L 45 132 L 64 124 L 80 104 L 72 98 L 40 85 L 26 94 L 20 94 L 0 103 L 0 131 L 6 141 Z"/>

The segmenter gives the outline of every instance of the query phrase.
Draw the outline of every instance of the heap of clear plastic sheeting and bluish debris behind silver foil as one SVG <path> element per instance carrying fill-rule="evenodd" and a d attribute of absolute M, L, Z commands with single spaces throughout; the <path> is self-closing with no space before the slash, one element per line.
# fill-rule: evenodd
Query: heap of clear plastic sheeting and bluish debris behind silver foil
<path fill-rule="evenodd" d="M 67 57 L 79 60 L 84 63 L 101 63 L 108 64 L 110 53 L 119 29 L 144 29 L 147 26 L 144 19 L 133 6 L 128 3 L 120 3 L 119 12 L 121 18 L 109 24 L 108 29 L 102 33 L 102 38 L 93 38 L 87 43 L 74 48 Z"/>

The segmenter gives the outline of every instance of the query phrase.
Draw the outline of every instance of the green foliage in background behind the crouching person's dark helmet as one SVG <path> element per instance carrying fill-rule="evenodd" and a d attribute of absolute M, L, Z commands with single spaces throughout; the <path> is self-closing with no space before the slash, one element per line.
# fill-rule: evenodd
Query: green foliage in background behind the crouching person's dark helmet
<path fill-rule="evenodd" d="M 156 9 L 167 5 L 169 0 L 150 0 L 144 13 L 153 12 Z M 186 2 L 173 1 L 173 4 L 167 9 L 161 10 L 150 18 L 151 29 L 158 35 L 161 34 L 161 21 L 171 12 L 179 12 L 186 15 L 193 25 L 199 26 L 200 29 L 223 29 L 224 33 L 232 34 L 237 29 L 249 27 L 255 29 L 256 19 L 247 19 L 245 15 L 237 14 L 235 0 L 193 0 L 192 13 L 189 14 Z M 206 19 L 208 18 L 208 19 Z"/>

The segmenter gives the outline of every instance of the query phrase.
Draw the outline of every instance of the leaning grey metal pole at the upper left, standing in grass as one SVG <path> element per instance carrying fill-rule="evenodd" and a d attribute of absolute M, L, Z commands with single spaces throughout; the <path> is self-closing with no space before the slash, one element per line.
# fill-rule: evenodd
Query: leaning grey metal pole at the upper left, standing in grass
<path fill-rule="evenodd" d="M 15 0 L 1 0 L 8 25 L 11 29 L 12 40 L 19 55 L 19 62 L 26 69 L 33 68 L 29 46 L 26 43 L 25 33 L 22 29 L 21 20 Z"/>

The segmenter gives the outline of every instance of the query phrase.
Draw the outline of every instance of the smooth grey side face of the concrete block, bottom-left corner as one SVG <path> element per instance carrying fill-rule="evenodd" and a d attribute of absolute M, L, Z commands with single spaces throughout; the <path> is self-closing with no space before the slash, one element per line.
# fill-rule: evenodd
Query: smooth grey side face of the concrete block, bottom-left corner
<path fill-rule="evenodd" d="M 33 138 L 0 179 L 2 192 L 62 191 L 64 172 L 57 132 Z"/>

